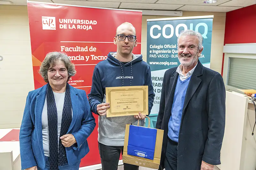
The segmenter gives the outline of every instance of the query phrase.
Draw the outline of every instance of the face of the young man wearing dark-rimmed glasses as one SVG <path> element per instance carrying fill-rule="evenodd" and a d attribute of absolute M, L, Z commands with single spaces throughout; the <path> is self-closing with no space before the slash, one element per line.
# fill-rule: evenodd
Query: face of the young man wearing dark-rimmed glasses
<path fill-rule="evenodd" d="M 118 34 L 123 35 L 135 35 L 134 27 L 129 24 L 122 24 L 116 30 L 116 37 L 114 37 L 114 44 L 117 46 L 117 53 L 120 55 L 130 55 L 134 47 L 137 46 L 138 40 L 129 41 L 128 37 L 125 37 L 123 41 L 118 39 Z"/>

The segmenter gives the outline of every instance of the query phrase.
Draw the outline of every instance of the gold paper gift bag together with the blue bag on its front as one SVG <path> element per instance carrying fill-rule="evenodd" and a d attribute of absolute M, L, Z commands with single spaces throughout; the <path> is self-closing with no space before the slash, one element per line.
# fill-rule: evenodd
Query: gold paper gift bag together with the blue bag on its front
<path fill-rule="evenodd" d="M 147 117 L 147 116 L 146 116 Z M 123 162 L 158 169 L 164 130 L 127 124 L 124 137 Z"/>

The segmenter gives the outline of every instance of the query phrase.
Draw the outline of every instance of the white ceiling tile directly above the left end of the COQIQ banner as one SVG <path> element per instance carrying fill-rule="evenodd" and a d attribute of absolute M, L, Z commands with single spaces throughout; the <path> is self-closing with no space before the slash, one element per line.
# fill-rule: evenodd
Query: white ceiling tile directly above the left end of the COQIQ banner
<path fill-rule="evenodd" d="M 171 4 L 143 4 L 143 3 L 122 3 L 119 8 L 141 9 L 141 10 L 176 10 L 182 5 Z"/>

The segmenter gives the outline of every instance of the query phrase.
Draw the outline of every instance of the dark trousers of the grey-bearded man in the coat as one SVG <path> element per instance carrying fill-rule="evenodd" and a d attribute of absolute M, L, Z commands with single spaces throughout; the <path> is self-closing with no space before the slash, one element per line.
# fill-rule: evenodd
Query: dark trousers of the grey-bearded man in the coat
<path fill-rule="evenodd" d="M 168 137 L 165 152 L 164 166 L 165 170 L 177 170 L 178 143 Z"/>

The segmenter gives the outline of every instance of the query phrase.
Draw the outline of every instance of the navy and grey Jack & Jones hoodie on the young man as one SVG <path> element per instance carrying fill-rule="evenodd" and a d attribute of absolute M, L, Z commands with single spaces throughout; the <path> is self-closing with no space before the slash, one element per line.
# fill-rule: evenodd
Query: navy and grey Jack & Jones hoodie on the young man
<path fill-rule="evenodd" d="M 97 114 L 97 105 L 106 103 L 106 87 L 148 85 L 150 114 L 155 93 L 149 65 L 142 61 L 142 55 L 132 54 L 132 61 L 126 64 L 117 60 L 115 56 L 115 52 L 110 52 L 107 60 L 99 62 L 94 68 L 92 89 L 88 94 L 92 112 Z M 138 121 L 134 116 L 99 116 L 98 141 L 108 146 L 124 146 L 125 125 L 130 123 L 137 124 Z M 144 123 L 144 120 L 141 123 Z"/>

